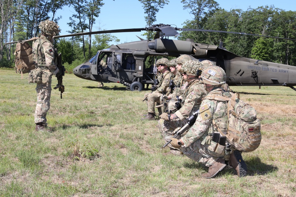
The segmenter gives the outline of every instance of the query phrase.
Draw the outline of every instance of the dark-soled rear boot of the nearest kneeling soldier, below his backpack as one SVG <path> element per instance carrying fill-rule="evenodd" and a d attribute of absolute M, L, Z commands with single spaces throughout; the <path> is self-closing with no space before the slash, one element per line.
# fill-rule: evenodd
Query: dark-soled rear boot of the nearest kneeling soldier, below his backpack
<path fill-rule="evenodd" d="M 242 154 L 238 150 L 235 150 L 229 156 L 229 165 L 237 170 L 237 175 L 239 177 L 244 177 L 247 175 L 247 165 L 242 159 Z"/>

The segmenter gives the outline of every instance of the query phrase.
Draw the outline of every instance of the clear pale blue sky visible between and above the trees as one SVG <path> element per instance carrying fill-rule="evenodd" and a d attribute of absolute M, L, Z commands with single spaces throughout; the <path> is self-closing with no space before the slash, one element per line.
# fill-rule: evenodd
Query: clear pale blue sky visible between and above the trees
<path fill-rule="evenodd" d="M 257 8 L 258 6 L 271 6 L 283 10 L 296 10 L 296 4 L 292 0 L 279 1 L 279 0 L 249 0 L 249 1 L 234 1 L 234 0 L 216 0 L 219 6 L 225 10 L 230 9 L 242 9 L 246 11 L 249 7 Z M 101 13 L 96 19 L 96 24 L 93 27 L 93 31 L 98 31 L 99 27 L 105 30 L 115 29 L 128 29 L 128 28 L 142 28 L 146 26 L 144 19 L 145 14 L 142 8 L 142 4 L 138 0 L 104 0 L 104 6 L 101 7 Z M 61 15 L 62 19 L 59 20 L 58 25 L 61 28 L 60 35 L 69 34 L 67 31 L 70 28 L 67 25 L 69 17 L 73 14 L 73 8 L 65 6 L 63 10 L 57 12 L 57 16 Z M 191 19 L 192 16 L 189 11 L 183 10 L 183 4 L 181 0 L 170 0 L 168 5 L 165 5 L 163 9 L 160 9 L 156 15 L 157 21 L 155 24 L 163 23 L 169 25 L 176 25 L 177 27 L 183 27 L 182 23 L 186 19 Z M 129 33 L 114 33 L 117 38 L 120 39 L 120 43 L 138 41 L 139 36 L 144 32 L 129 32 Z M 248 33 L 248 32 L 246 32 Z M 172 39 L 172 37 L 170 37 Z M 111 43 L 116 44 L 116 43 Z"/>

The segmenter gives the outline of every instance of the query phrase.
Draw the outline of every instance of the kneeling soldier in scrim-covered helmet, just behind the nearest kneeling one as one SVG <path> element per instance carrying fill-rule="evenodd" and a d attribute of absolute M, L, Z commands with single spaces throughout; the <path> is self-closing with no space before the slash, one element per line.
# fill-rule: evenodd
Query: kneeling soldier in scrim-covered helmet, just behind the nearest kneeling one
<path fill-rule="evenodd" d="M 184 101 L 181 102 L 182 107 L 176 113 L 170 115 L 163 113 L 160 115 L 157 127 L 160 129 L 164 140 L 167 142 L 177 127 L 182 127 L 182 121 L 188 118 L 192 113 L 200 108 L 202 98 L 207 94 L 202 80 L 199 78 L 204 67 L 198 61 L 186 61 L 183 66 L 183 77 L 188 82 L 188 88 L 184 92 Z M 179 149 L 174 148 L 168 144 L 170 152 L 168 154 L 180 155 L 182 154 Z"/>

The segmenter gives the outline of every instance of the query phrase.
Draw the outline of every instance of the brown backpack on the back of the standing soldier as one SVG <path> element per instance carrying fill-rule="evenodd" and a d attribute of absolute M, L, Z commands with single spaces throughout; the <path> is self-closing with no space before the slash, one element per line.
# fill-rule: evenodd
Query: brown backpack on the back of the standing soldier
<path fill-rule="evenodd" d="M 16 44 L 15 47 L 15 72 L 28 73 L 30 70 L 35 69 L 33 61 L 32 47 L 27 41 L 36 40 L 38 37 L 31 38 L 25 42 Z"/>

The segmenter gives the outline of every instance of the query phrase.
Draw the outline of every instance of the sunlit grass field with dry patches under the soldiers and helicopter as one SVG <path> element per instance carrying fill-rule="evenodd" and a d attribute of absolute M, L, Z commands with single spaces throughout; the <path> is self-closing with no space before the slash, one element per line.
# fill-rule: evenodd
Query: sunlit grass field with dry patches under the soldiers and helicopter
<path fill-rule="evenodd" d="M 25 74 L 26 76 L 26 74 Z M 56 79 L 53 79 L 53 86 Z M 212 179 L 187 157 L 163 156 L 145 90 L 64 77 L 47 114 L 54 132 L 36 132 L 35 84 L 0 70 L 0 196 L 296 196 L 296 92 L 287 87 L 231 87 L 257 110 L 262 142 L 234 169 Z"/>

